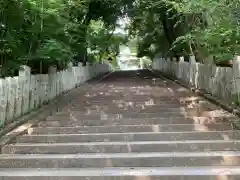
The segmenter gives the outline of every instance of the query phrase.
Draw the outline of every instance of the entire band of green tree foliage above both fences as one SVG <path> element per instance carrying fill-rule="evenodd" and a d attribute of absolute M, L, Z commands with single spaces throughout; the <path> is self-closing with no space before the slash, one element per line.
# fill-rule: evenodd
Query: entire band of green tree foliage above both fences
<path fill-rule="evenodd" d="M 230 60 L 240 48 L 239 12 L 239 0 L 0 0 L 1 73 L 16 75 L 22 64 L 36 72 L 62 69 L 73 56 L 115 59 L 128 41 L 113 33 L 126 14 L 138 57 L 162 52 Z"/>

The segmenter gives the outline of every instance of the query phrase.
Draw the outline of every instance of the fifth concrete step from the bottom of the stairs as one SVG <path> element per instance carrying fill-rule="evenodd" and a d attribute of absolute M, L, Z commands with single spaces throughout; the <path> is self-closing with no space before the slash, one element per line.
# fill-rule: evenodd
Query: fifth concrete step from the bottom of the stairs
<path fill-rule="evenodd" d="M 118 126 L 74 126 L 74 127 L 33 127 L 29 134 L 77 134 L 77 133 L 128 133 L 128 132 L 185 132 L 185 131 L 226 131 L 232 130 L 230 123 L 209 125 L 118 125 Z"/>

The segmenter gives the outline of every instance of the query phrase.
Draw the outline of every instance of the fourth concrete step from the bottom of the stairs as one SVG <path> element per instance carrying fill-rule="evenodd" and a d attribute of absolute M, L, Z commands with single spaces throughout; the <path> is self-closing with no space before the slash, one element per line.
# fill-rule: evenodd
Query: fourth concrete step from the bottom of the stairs
<path fill-rule="evenodd" d="M 188 141 L 188 140 L 238 140 L 240 132 L 138 132 L 92 134 L 42 134 L 17 138 L 20 143 L 68 143 L 68 142 L 121 142 L 121 141 Z"/>

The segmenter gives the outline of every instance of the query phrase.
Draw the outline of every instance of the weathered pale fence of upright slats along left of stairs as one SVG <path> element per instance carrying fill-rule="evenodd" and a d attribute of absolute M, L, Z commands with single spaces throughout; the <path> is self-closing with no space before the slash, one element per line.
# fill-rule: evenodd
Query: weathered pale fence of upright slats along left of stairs
<path fill-rule="evenodd" d="M 22 66 L 19 76 L 0 79 L 0 127 L 108 71 L 106 64 L 83 67 L 79 63 L 76 67 L 69 64 L 64 71 L 56 72 L 52 67 L 48 74 L 31 75 L 31 69 Z"/>

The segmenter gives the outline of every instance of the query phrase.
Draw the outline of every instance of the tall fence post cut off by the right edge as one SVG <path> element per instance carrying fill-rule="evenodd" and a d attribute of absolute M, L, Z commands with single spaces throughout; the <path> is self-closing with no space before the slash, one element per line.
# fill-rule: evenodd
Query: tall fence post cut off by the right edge
<path fill-rule="evenodd" d="M 233 96 L 236 101 L 240 101 L 240 56 L 233 59 Z"/>

